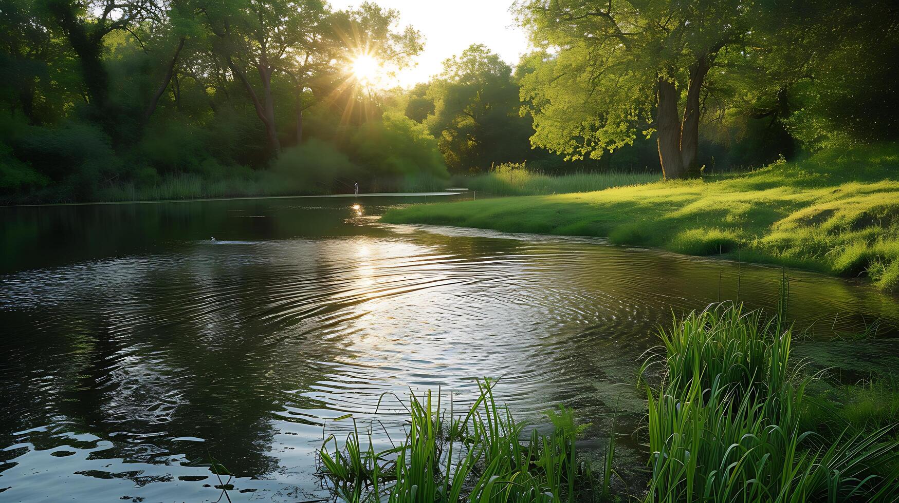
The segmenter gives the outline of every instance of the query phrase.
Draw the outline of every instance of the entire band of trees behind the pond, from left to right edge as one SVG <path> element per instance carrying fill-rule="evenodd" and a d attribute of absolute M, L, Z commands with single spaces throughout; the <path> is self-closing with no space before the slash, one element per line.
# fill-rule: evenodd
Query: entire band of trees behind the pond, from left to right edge
<path fill-rule="evenodd" d="M 376 4 L 0 0 L 0 196 L 183 173 L 316 192 L 524 162 L 679 178 L 896 137 L 894 2 L 514 8 L 535 48 L 516 66 L 475 45 L 383 91 L 353 58 L 399 68 L 423 36 Z"/>

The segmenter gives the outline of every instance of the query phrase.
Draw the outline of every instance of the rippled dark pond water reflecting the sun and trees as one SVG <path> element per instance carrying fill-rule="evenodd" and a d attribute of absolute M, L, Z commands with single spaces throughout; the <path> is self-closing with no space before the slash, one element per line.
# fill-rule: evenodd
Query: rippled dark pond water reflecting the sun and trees
<path fill-rule="evenodd" d="M 0 208 L 0 501 L 215 501 L 208 453 L 233 501 L 320 498 L 323 432 L 352 428 L 327 419 L 365 424 L 407 386 L 461 408 L 487 375 L 534 424 L 574 406 L 598 452 L 611 410 L 639 424 L 638 360 L 672 311 L 738 285 L 776 303 L 779 269 L 372 218 L 422 201 Z M 790 314 L 818 334 L 800 355 L 847 378 L 899 368 L 895 296 L 789 276 Z M 886 337 L 823 341 L 878 318 Z M 395 435 L 396 409 L 377 414 Z"/>

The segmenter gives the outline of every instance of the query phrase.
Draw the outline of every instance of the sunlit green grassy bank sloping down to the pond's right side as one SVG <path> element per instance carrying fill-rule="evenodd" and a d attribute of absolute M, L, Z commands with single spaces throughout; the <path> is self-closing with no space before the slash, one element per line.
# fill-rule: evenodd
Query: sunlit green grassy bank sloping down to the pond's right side
<path fill-rule="evenodd" d="M 899 287 L 899 146 L 690 181 L 391 210 L 393 224 L 592 235 L 691 255 L 739 255 Z"/>

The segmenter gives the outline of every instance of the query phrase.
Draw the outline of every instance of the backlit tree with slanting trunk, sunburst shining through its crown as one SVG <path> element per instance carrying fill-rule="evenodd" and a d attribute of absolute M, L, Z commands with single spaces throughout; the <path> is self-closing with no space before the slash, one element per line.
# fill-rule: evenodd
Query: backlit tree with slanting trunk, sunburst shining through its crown
<path fill-rule="evenodd" d="M 294 86 L 297 141 L 303 110 L 340 92 L 352 57 L 370 53 L 404 63 L 421 50 L 419 34 L 396 31 L 396 11 L 364 3 L 332 13 L 321 0 L 210 3 L 202 9 L 215 34 L 213 53 L 240 82 L 263 122 L 271 153 L 280 153 L 272 79 Z"/>

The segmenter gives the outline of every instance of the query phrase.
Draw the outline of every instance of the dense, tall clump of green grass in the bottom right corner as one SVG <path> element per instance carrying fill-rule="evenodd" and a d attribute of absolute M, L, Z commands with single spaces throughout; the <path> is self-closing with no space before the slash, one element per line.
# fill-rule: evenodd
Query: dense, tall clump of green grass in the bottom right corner
<path fill-rule="evenodd" d="M 647 391 L 645 501 L 899 498 L 890 427 L 834 437 L 803 428 L 814 377 L 790 361 L 791 330 L 780 320 L 715 304 L 662 331 L 662 380 Z"/>

